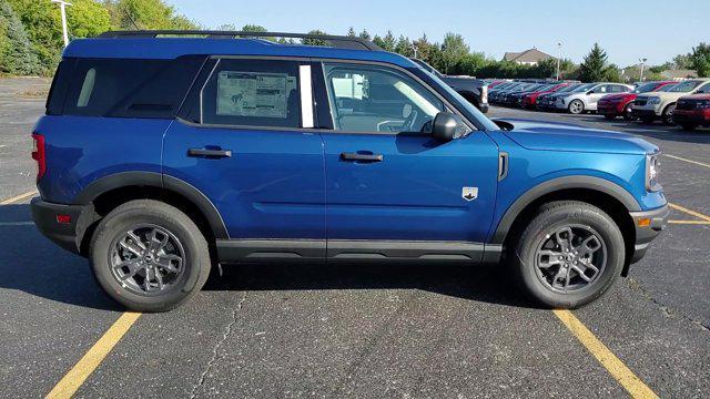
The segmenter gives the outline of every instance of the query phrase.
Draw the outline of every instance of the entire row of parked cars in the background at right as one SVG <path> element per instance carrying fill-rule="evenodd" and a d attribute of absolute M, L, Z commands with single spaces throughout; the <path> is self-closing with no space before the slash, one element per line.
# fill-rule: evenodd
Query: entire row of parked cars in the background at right
<path fill-rule="evenodd" d="M 608 120 L 678 124 L 684 130 L 710 126 L 710 79 L 641 82 L 636 85 L 597 82 L 494 81 L 491 104 L 571 114 L 596 112 Z"/>

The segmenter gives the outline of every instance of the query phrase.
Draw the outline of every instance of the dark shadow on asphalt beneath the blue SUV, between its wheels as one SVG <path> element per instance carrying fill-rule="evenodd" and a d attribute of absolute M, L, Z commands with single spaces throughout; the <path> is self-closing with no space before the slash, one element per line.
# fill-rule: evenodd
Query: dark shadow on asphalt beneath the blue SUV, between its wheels
<path fill-rule="evenodd" d="M 467 300 L 535 307 L 504 265 L 338 263 L 223 266 L 205 290 L 422 289 Z"/>

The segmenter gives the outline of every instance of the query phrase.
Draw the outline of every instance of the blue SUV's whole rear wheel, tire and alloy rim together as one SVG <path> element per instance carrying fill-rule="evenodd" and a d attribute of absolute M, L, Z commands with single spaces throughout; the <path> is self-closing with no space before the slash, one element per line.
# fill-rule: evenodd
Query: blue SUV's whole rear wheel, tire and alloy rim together
<path fill-rule="evenodd" d="M 111 211 L 94 232 L 89 259 L 109 296 L 145 313 L 183 304 L 204 286 L 211 269 L 207 242 L 195 223 L 153 200 L 131 201 Z"/>

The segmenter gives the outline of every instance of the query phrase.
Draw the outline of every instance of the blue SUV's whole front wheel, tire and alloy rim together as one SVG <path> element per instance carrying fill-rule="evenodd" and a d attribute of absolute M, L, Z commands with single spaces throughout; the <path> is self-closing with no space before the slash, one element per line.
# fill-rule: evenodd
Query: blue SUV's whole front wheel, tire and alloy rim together
<path fill-rule="evenodd" d="M 579 259 L 578 256 L 585 252 L 584 246 L 572 245 L 569 253 L 565 253 L 561 245 L 559 250 L 550 250 L 549 253 L 559 253 L 564 257 L 571 256 L 561 263 L 558 260 L 558 256 L 545 255 L 545 250 L 548 250 L 545 249 L 546 244 L 555 245 L 558 237 L 564 237 L 567 234 L 565 231 L 568 227 L 578 237 L 572 237 L 572 242 L 587 239 L 580 234 L 581 232 L 587 232 L 590 237 L 596 237 L 598 247 L 589 260 L 585 260 L 597 262 L 595 264 L 595 267 L 598 268 L 596 274 L 591 268 L 585 267 L 584 270 L 587 277 L 591 275 L 590 283 L 582 280 L 580 274 L 574 269 L 575 267 L 578 269 L 584 267 L 582 262 L 578 260 L 579 264 L 572 264 L 574 259 Z M 594 242 L 594 239 L 589 239 L 587 247 L 591 249 L 591 246 L 596 245 Z M 565 241 L 565 243 L 569 243 L 569 241 Z M 516 239 L 515 245 L 511 245 L 508 250 L 513 252 L 508 254 L 507 258 L 510 259 L 513 275 L 518 285 L 531 299 L 551 308 L 577 308 L 601 297 L 621 274 L 626 256 L 623 236 L 611 217 L 596 206 L 577 201 L 552 202 L 542 205 L 525 227 L 519 239 Z M 572 254 L 575 250 L 579 254 Z M 600 259 L 604 259 L 604 263 L 599 262 Z M 558 265 L 548 268 L 538 267 L 538 265 L 547 265 L 552 262 Z M 562 264 L 570 266 L 568 268 L 570 270 L 568 275 L 571 276 L 569 282 L 562 273 Z M 558 279 L 559 273 L 562 273 L 562 276 L 559 277 L 561 280 Z M 550 280 L 552 280 L 551 284 Z M 572 286 L 572 282 L 580 286 Z M 567 291 L 565 291 L 565 287 L 556 287 L 559 284 L 568 284 Z M 575 288 L 572 289 L 572 287 Z"/>

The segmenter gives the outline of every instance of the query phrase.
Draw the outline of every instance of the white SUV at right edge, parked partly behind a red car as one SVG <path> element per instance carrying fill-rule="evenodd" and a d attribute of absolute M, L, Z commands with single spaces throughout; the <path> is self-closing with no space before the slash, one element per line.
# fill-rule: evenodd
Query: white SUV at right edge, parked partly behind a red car
<path fill-rule="evenodd" d="M 661 89 L 638 95 L 633 100 L 631 114 L 646 123 L 660 119 L 663 123 L 671 125 L 678 99 L 694 94 L 699 90 L 706 91 L 708 88 L 710 88 L 710 79 L 691 79 L 669 88 L 668 91 Z"/>

